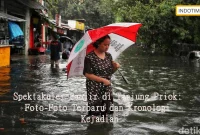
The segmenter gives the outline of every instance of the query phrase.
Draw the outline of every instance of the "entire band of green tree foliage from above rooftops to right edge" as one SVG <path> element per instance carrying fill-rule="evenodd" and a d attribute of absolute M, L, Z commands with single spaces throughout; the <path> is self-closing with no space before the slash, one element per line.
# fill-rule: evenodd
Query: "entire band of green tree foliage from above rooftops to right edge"
<path fill-rule="evenodd" d="M 199 17 L 178 17 L 176 5 L 200 4 L 200 0 L 48 0 L 52 16 L 62 21 L 85 19 L 97 28 L 113 22 L 139 22 L 138 39 L 147 46 L 170 51 L 176 43 L 200 43 Z"/>

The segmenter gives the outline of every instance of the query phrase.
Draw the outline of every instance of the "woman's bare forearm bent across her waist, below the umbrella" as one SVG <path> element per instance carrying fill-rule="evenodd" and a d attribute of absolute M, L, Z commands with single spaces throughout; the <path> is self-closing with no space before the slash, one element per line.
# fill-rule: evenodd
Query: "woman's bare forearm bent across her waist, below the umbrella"
<path fill-rule="evenodd" d="M 85 77 L 87 77 L 90 80 L 93 80 L 93 81 L 96 81 L 96 82 L 99 82 L 99 83 L 103 83 L 104 85 L 110 85 L 111 84 L 109 80 L 102 78 L 102 77 L 99 77 L 99 76 L 96 76 L 94 74 L 85 73 Z"/>

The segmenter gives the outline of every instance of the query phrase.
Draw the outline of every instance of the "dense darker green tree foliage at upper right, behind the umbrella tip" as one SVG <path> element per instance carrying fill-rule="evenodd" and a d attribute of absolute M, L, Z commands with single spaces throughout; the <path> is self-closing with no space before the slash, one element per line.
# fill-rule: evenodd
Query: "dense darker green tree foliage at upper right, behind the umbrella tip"
<path fill-rule="evenodd" d="M 198 4 L 193 0 L 123 0 L 115 1 L 117 21 L 139 22 L 139 40 L 147 46 L 168 52 L 176 43 L 200 43 L 198 17 L 177 17 L 175 6 Z"/>

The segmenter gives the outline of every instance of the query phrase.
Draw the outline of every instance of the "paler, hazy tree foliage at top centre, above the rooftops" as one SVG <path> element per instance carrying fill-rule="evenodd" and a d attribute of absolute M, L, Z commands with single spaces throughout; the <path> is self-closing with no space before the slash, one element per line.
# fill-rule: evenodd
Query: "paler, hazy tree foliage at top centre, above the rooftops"
<path fill-rule="evenodd" d="M 112 10 L 105 2 L 107 0 L 59 0 L 57 10 L 53 8 L 50 12 L 52 15 L 59 12 L 63 22 L 85 19 L 86 25 L 97 28 L 114 22 Z"/>

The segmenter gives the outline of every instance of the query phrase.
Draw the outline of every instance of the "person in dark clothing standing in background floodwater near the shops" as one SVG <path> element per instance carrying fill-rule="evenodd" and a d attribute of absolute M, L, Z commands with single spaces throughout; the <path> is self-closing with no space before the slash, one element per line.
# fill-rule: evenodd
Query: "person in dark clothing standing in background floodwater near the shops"
<path fill-rule="evenodd" d="M 53 32 L 51 34 L 51 43 L 50 43 L 50 50 L 51 50 L 51 67 L 59 67 L 59 60 L 60 60 L 60 52 L 62 52 L 61 43 L 58 41 L 58 35 Z"/>

